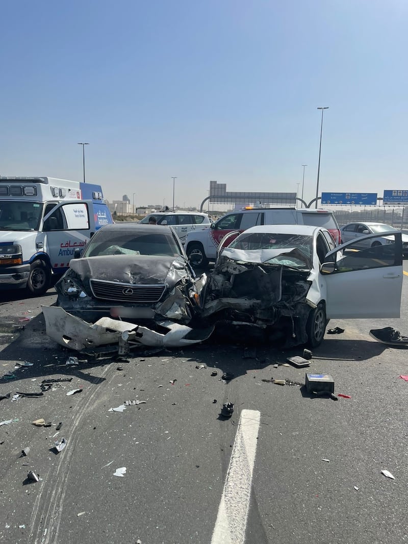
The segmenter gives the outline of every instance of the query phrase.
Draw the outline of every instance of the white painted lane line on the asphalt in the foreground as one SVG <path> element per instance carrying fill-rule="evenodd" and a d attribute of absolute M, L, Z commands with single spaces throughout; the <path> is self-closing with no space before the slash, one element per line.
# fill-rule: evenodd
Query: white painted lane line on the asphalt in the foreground
<path fill-rule="evenodd" d="M 211 544 L 244 544 L 261 413 L 243 410 Z"/>

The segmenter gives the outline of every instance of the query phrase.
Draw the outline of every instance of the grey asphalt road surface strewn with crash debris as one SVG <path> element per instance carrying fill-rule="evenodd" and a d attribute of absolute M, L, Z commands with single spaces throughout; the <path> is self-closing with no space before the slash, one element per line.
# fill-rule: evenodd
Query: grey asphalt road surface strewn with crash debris
<path fill-rule="evenodd" d="M 3 293 L 0 542 L 408 542 L 408 352 L 368 335 L 388 325 L 408 335 L 407 285 L 400 319 L 330 322 L 345 331 L 326 335 L 307 370 L 351 397 L 337 401 L 263 381 L 304 383 L 305 369 L 283 366 L 302 349 L 245 351 L 242 337 L 67 366 L 76 354 L 45 335 L 41 314 L 54 290 Z M 44 380 L 55 381 L 42 396 L 11 400 Z M 145 403 L 109 411 L 126 400 Z M 227 402 L 231 418 L 220 416 Z"/>

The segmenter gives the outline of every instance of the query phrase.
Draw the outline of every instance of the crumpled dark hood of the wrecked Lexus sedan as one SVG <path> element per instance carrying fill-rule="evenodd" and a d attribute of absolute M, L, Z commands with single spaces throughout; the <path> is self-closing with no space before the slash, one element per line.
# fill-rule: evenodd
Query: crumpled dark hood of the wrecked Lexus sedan
<path fill-rule="evenodd" d="M 71 259 L 70 268 L 85 282 L 94 279 L 144 285 L 168 283 L 172 287 L 184 276 L 186 263 L 176 257 L 106 255 Z"/>

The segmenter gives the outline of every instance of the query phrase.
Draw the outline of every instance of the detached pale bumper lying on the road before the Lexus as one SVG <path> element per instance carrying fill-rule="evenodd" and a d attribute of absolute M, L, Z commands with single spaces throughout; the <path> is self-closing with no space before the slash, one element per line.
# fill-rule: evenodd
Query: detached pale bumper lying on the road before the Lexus
<path fill-rule="evenodd" d="M 214 330 L 214 327 L 191 329 L 187 325 L 162 321 L 157 325 L 163 332 L 157 332 L 146 326 L 109 317 L 92 324 L 72 316 L 59 306 L 42 306 L 42 313 L 47 335 L 64 348 L 77 351 L 109 344 L 118 344 L 118 349 L 120 345 L 121 350 L 125 351 L 139 345 L 177 348 L 202 342 Z"/>

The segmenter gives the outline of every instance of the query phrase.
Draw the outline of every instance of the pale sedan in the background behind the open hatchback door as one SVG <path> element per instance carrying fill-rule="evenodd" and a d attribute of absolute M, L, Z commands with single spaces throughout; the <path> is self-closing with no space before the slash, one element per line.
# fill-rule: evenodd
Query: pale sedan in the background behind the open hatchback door
<path fill-rule="evenodd" d="M 376 245 L 392 244 L 393 238 L 390 236 L 382 236 L 385 232 L 401 232 L 396 228 L 385 223 L 349 223 L 344 225 L 341 229 L 342 242 L 355 242 L 351 245 L 351 248 L 369 248 Z M 365 238 L 367 234 L 377 234 L 375 238 Z M 360 238 L 364 237 L 360 240 Z M 402 235 L 403 240 L 403 254 L 408 256 L 408 236 Z"/>

